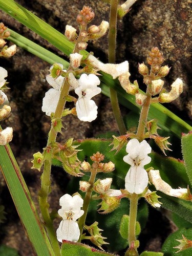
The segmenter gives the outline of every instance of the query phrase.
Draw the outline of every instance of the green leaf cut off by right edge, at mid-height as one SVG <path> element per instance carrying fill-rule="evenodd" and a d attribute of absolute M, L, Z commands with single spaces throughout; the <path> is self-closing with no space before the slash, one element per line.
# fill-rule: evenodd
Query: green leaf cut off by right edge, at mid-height
<path fill-rule="evenodd" d="M 190 184 L 192 185 L 192 133 L 188 133 L 182 136 L 181 146 L 186 172 Z"/>

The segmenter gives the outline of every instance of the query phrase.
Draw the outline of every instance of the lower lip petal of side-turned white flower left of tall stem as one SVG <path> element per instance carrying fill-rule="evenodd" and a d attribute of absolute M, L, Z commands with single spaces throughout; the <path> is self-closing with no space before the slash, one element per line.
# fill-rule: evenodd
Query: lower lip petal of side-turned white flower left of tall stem
<path fill-rule="evenodd" d="M 42 112 L 46 112 L 47 116 L 51 116 L 51 113 L 55 113 L 57 104 L 60 97 L 60 91 L 53 88 L 45 94 L 45 97 L 42 99 Z"/>

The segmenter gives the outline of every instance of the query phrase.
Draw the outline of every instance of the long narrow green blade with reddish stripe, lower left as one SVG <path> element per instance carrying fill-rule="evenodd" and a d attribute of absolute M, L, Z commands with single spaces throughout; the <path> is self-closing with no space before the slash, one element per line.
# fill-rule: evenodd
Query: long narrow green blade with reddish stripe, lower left
<path fill-rule="evenodd" d="M 55 255 L 9 145 L 0 146 L 0 169 L 37 255 Z"/>

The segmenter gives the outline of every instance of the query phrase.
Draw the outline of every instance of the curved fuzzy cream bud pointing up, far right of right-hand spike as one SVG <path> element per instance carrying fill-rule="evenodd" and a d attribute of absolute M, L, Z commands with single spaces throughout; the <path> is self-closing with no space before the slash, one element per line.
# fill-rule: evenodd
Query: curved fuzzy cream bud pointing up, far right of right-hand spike
<path fill-rule="evenodd" d="M 159 102 L 168 103 L 179 97 L 183 92 L 183 81 L 180 78 L 177 78 L 175 82 L 171 85 L 172 90 L 169 93 L 161 93 L 159 96 Z"/>

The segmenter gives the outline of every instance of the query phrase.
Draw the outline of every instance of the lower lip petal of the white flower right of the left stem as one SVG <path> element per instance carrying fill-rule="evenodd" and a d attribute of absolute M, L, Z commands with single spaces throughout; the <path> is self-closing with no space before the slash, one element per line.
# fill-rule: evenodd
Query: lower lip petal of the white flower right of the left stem
<path fill-rule="evenodd" d="M 76 112 L 79 120 L 92 122 L 97 118 L 97 105 L 93 100 L 80 98 L 76 102 Z"/>

